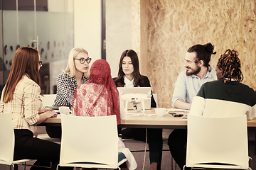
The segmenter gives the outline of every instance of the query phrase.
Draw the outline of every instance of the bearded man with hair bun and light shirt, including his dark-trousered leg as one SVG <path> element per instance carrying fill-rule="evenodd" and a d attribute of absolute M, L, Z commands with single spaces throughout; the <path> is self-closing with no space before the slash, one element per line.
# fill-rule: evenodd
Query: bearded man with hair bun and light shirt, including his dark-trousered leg
<path fill-rule="evenodd" d="M 214 46 L 210 43 L 188 48 L 184 64 L 186 70 L 181 72 L 175 84 L 171 101 L 173 108 L 189 110 L 191 101 L 202 84 L 217 79 L 215 69 L 209 65 L 211 55 L 216 53 L 213 49 Z M 171 132 L 168 140 L 171 155 L 181 169 L 186 163 L 186 135 L 187 130 L 176 129 Z"/>

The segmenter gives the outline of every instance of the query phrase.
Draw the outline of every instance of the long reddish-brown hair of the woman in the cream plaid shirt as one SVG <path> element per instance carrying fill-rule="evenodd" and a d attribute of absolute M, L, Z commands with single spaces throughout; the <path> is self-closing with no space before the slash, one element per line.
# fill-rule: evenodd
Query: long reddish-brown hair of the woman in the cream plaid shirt
<path fill-rule="evenodd" d="M 40 86 L 38 51 L 32 47 L 19 47 L 14 54 L 13 64 L 4 88 L 4 103 L 12 101 L 18 81 L 27 74 Z"/>

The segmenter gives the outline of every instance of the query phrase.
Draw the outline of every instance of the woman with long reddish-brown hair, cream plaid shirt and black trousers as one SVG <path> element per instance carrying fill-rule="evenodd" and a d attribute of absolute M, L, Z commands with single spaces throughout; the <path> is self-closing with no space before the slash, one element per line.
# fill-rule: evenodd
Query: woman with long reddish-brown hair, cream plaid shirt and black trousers
<path fill-rule="evenodd" d="M 55 170 L 60 160 L 60 145 L 36 137 L 36 125 L 56 114 L 53 110 L 42 109 L 39 86 L 41 66 L 42 61 L 36 49 L 20 47 L 16 50 L 1 95 L 0 114 L 11 113 L 15 136 L 14 160 L 37 159 L 33 164 L 35 166 L 50 166 L 52 162 L 49 169 Z M 35 166 L 31 169 L 38 169 Z"/>

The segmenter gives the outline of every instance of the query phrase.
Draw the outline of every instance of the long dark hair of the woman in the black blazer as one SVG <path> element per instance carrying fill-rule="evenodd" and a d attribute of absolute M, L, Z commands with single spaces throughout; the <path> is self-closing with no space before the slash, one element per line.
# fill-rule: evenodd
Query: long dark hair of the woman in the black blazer
<path fill-rule="evenodd" d="M 122 61 L 124 60 L 124 57 L 130 57 L 132 60 L 132 65 L 134 67 L 134 72 L 132 72 L 132 77 L 134 78 L 134 87 L 137 86 L 143 86 L 143 79 L 142 75 L 139 72 L 139 58 L 136 52 L 134 50 L 125 50 L 122 52 L 122 55 L 120 57 L 119 61 L 119 70 L 118 70 L 118 76 L 115 80 L 117 82 L 118 87 L 124 86 L 124 72 L 122 71 Z"/>

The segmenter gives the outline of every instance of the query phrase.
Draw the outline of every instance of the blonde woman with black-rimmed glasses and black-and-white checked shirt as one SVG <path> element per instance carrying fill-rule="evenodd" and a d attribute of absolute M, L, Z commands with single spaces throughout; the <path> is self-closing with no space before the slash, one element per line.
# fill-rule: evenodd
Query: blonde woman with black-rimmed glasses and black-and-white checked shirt
<path fill-rule="evenodd" d="M 74 47 L 68 56 L 68 65 L 64 72 L 57 77 L 57 95 L 54 106 L 72 106 L 71 101 L 75 89 L 89 81 L 91 58 L 82 47 Z M 46 126 L 50 137 L 61 138 L 61 128 Z"/>

